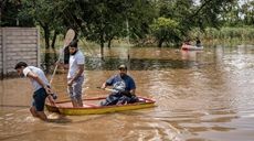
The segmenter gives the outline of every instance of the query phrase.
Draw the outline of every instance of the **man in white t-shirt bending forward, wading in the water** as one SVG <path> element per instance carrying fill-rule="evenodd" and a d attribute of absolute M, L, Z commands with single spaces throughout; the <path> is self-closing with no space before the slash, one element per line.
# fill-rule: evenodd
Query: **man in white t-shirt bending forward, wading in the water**
<path fill-rule="evenodd" d="M 44 113 L 44 105 L 45 99 L 50 100 L 52 105 L 54 105 L 54 99 L 51 96 L 53 94 L 50 89 L 49 80 L 46 79 L 45 74 L 43 70 L 35 66 L 28 66 L 24 62 L 19 62 L 14 69 L 18 72 L 19 75 L 28 77 L 33 85 L 33 102 L 30 107 L 30 111 L 33 117 L 40 118 L 42 120 L 47 120 L 46 115 Z"/>

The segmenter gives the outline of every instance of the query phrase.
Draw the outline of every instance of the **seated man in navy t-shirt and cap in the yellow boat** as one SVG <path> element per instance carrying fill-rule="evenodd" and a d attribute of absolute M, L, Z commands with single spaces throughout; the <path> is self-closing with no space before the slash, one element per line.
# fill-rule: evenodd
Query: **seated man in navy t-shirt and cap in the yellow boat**
<path fill-rule="evenodd" d="M 100 102 L 100 106 L 125 105 L 138 101 L 138 98 L 135 95 L 135 82 L 129 75 L 127 75 L 127 67 L 125 65 L 120 65 L 119 74 L 112 76 L 100 88 L 105 89 L 107 86 L 113 86 L 113 93 L 105 101 Z"/>

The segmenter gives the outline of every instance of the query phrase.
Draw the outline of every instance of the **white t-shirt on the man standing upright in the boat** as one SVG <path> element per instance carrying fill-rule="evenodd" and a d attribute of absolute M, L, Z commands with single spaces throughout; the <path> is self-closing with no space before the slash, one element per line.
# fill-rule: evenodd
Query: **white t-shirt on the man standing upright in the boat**
<path fill-rule="evenodd" d="M 74 78 L 77 72 L 80 70 L 78 65 L 84 65 L 84 64 L 85 64 L 85 56 L 81 51 L 77 51 L 76 54 L 74 55 L 70 55 L 67 78 L 68 79 Z M 81 76 L 84 76 L 84 73 Z"/>

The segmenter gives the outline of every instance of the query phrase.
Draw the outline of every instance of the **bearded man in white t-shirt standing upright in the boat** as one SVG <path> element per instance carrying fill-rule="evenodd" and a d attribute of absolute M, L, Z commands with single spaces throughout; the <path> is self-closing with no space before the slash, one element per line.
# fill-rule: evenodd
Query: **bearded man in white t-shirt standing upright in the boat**
<path fill-rule="evenodd" d="M 67 74 L 67 91 L 72 100 L 73 107 L 83 107 L 82 101 L 82 85 L 84 82 L 84 64 L 85 56 L 77 48 L 77 41 L 72 41 L 68 45 L 70 59 L 68 64 L 56 62 L 57 66 L 68 68 Z"/>

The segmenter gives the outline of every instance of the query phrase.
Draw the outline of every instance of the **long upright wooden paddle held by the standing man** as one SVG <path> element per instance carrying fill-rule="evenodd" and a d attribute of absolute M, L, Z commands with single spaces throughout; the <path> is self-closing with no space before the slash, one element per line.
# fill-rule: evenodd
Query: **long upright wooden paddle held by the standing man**
<path fill-rule="evenodd" d="M 67 47 L 68 44 L 74 40 L 74 37 L 75 37 L 75 32 L 74 32 L 72 29 L 70 29 L 70 30 L 67 31 L 66 35 L 65 35 L 63 47 L 64 47 L 64 48 Z M 64 51 L 64 50 L 63 50 L 63 51 Z M 63 51 L 60 53 L 59 61 L 60 61 L 61 57 L 62 57 Z M 51 77 L 51 80 L 50 80 L 50 86 L 51 86 L 51 84 L 52 84 L 52 82 L 53 82 L 53 78 L 54 78 L 54 75 L 55 75 L 56 69 L 57 69 L 57 65 L 55 65 L 54 73 L 53 73 L 53 75 L 52 75 L 52 77 Z"/>

